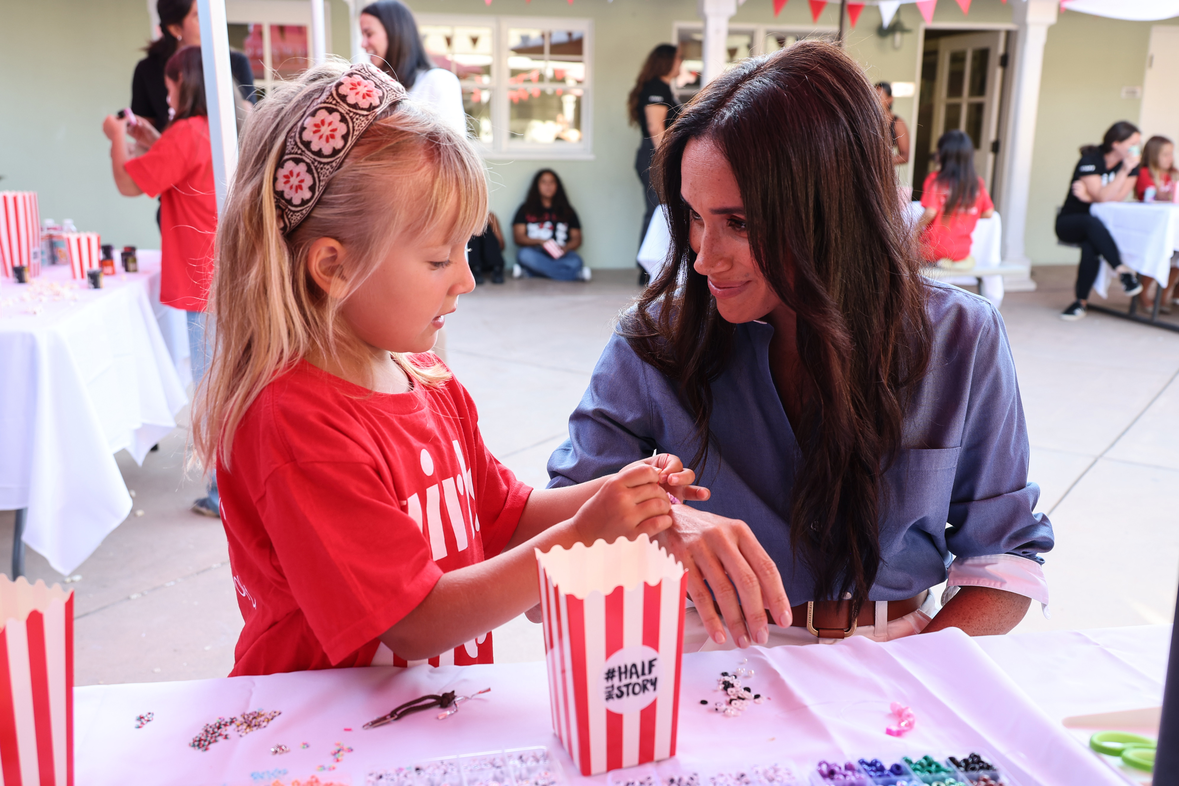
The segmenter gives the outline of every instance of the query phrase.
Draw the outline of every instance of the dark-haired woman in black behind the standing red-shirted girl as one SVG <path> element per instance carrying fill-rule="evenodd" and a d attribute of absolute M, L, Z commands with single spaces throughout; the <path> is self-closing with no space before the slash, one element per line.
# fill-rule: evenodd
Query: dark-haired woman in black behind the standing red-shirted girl
<path fill-rule="evenodd" d="M 131 111 L 163 131 L 169 121 L 164 64 L 182 46 L 200 46 L 200 19 L 195 0 L 158 0 L 156 12 L 162 35 L 147 47 L 147 57 L 136 65 L 131 79 Z M 229 65 L 242 98 L 256 104 L 250 59 L 231 49 Z"/>

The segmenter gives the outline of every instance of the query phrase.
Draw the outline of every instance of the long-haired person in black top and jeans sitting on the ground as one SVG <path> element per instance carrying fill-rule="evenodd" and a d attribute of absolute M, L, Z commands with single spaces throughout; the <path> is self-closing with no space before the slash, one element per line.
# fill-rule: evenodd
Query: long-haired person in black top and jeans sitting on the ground
<path fill-rule="evenodd" d="M 541 170 L 532 179 L 528 197 L 512 219 L 512 239 L 519 246 L 512 278 L 590 280 L 590 269 L 574 253 L 581 246 L 581 222 L 553 170 Z"/>

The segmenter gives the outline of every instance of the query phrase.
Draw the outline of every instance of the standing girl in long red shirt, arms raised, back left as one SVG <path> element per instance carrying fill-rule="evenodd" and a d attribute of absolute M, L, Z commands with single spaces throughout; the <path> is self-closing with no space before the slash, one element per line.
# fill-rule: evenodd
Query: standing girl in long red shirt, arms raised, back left
<path fill-rule="evenodd" d="M 213 159 L 209 145 L 205 81 L 200 47 L 178 49 L 164 66 L 172 121 L 164 133 L 144 118 L 108 115 L 103 131 L 111 140 L 111 169 L 119 193 L 125 197 L 159 197 L 160 282 L 159 302 L 186 311 L 192 384 L 199 388 L 209 365 L 205 341 L 205 300 L 213 275 L 213 237 L 217 232 L 217 200 L 213 193 Z M 147 152 L 127 158 L 127 134 Z M 208 496 L 192 510 L 218 515 L 217 481 L 211 478 Z"/>

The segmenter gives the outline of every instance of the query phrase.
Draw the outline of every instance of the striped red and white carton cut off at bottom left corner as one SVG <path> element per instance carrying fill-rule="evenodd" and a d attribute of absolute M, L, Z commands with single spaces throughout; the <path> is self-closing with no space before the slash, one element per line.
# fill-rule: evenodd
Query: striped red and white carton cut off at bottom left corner
<path fill-rule="evenodd" d="M 73 593 L 0 576 L 0 774 L 73 786 Z"/>

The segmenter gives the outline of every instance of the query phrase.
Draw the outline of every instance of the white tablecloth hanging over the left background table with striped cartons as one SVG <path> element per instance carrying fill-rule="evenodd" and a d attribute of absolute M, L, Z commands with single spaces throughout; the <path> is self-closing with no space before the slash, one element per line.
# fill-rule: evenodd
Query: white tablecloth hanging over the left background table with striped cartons
<path fill-rule="evenodd" d="M 28 508 L 25 543 L 64 574 L 131 511 L 114 454 L 141 462 L 187 402 L 153 279 L 158 302 L 158 267 L 101 290 L 74 289 L 64 265 L 0 284 L 0 510 Z M 24 299 L 45 282 L 64 295 Z"/>

